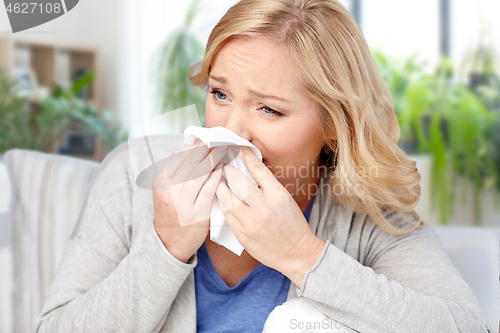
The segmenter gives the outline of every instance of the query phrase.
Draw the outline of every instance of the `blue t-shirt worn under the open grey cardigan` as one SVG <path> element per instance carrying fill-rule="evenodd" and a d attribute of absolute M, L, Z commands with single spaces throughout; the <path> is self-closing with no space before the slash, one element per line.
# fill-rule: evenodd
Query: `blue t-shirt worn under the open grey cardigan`
<path fill-rule="evenodd" d="M 314 198 L 304 212 L 308 222 Z M 212 265 L 205 243 L 197 256 L 198 265 L 194 268 L 196 331 L 261 333 L 271 311 L 286 301 L 290 279 L 260 264 L 230 288 Z"/>

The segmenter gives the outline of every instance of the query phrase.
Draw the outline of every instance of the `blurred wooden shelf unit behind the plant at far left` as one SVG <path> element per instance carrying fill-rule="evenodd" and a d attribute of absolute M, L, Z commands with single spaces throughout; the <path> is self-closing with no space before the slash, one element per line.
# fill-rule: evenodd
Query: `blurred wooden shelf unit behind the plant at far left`
<path fill-rule="evenodd" d="M 52 84 L 58 83 L 62 86 L 68 86 L 73 81 L 75 73 L 82 70 L 93 70 L 98 68 L 99 53 L 97 48 L 71 45 L 65 43 L 39 41 L 33 37 L 8 35 L 0 36 L 0 67 L 7 69 L 12 75 L 16 68 L 19 68 L 20 52 L 29 50 L 31 54 L 27 62 L 35 74 L 37 80 L 37 90 L 34 97 L 36 99 L 52 91 Z M 64 60 L 64 61 L 63 61 Z M 26 66 L 26 65 L 25 65 Z M 67 78 L 64 80 L 63 78 Z M 99 107 L 99 77 L 96 76 L 91 82 L 86 98 L 87 103 L 92 103 Z M 68 136 L 71 133 L 66 132 L 50 149 L 51 153 L 60 153 L 59 147 L 68 144 Z M 78 154 L 74 156 L 89 160 L 101 162 L 104 156 L 104 149 L 101 140 L 94 136 L 94 153 Z"/>

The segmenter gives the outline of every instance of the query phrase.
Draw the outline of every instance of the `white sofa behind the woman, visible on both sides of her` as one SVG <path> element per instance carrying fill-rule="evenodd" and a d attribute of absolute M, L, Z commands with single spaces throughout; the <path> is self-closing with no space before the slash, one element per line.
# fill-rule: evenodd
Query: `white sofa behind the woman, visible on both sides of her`
<path fill-rule="evenodd" d="M 10 314 L 10 320 L 2 321 L 0 317 L 0 333 L 33 332 L 99 164 L 15 149 L 6 153 L 5 165 L 11 188 L 6 222 L 11 242 L 3 250 L 11 255 L 11 260 L 4 262 L 0 271 L 11 272 L 12 288 L 0 293 L 7 297 L 0 304 L 10 303 L 11 309 L 4 312 Z M 491 332 L 498 333 L 500 228 L 433 227 L 479 299 L 491 321 Z M 5 226 L 0 230 L 5 230 Z M 5 267 L 10 263 L 11 267 Z"/>

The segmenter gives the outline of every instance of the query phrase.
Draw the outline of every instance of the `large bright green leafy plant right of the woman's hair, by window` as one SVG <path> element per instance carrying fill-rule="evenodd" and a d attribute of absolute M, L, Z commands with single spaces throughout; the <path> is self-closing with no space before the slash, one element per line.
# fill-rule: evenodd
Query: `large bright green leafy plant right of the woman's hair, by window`
<path fill-rule="evenodd" d="M 432 156 L 432 209 L 439 207 L 440 222 L 446 224 L 452 214 L 458 176 L 472 181 L 476 220 L 481 221 L 480 195 L 499 179 L 494 161 L 498 148 L 487 135 L 498 114 L 466 86 L 453 83 L 454 70 L 447 59 L 428 74 L 413 58 L 402 67 L 381 53 L 374 58 L 393 93 L 400 146 L 410 142 L 420 154 Z M 466 195 L 464 191 L 463 201 Z M 498 191 L 495 199 L 498 205 Z"/>

